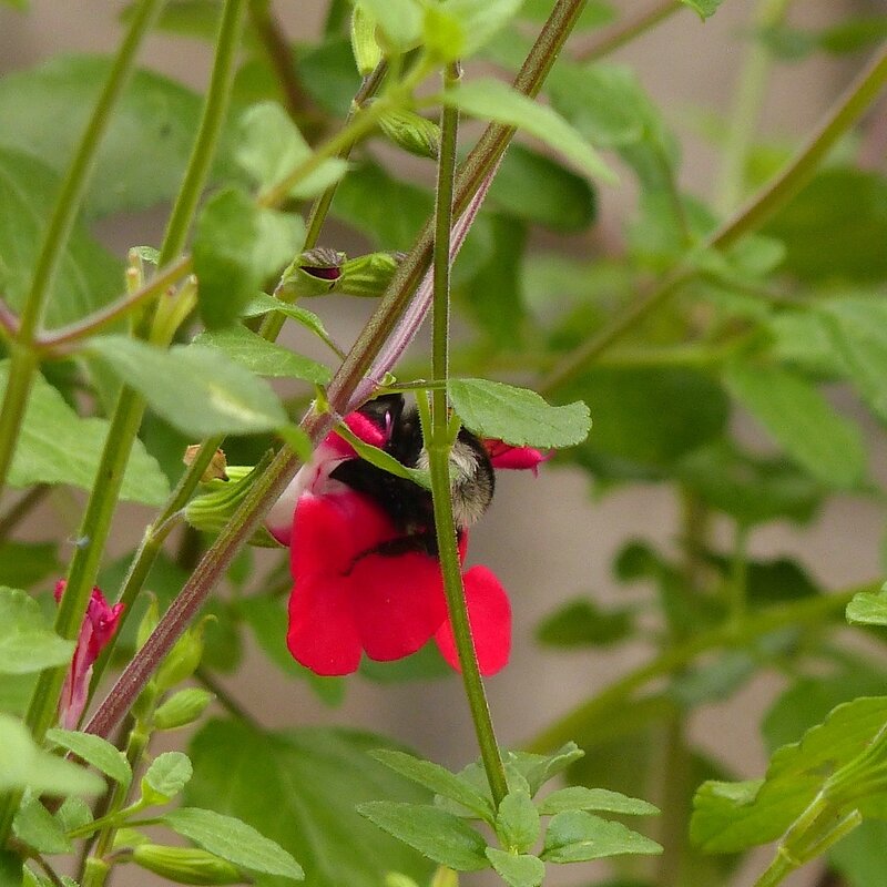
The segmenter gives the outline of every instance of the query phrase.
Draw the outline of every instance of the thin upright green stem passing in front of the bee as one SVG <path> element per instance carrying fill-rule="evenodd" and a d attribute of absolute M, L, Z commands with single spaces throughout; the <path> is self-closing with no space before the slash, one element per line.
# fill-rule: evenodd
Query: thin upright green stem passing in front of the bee
<path fill-rule="evenodd" d="M 445 88 L 453 86 L 459 79 L 458 65 L 448 68 L 443 79 Z M 450 232 L 452 230 L 452 194 L 458 130 L 459 112 L 456 109 L 445 108 L 440 122 L 440 156 L 435 201 L 434 326 L 431 333 L 432 375 L 436 379 L 445 381 L 449 377 Z M 457 548 L 457 528 L 452 516 L 449 409 L 446 388 L 434 389 L 431 407 L 430 439 L 427 450 L 443 592 L 447 595 L 450 625 L 456 639 L 462 684 L 475 723 L 480 757 L 487 772 L 493 803 L 498 807 L 508 794 L 508 784 L 490 717 L 490 708 L 487 704 L 487 695 L 483 691 L 483 681 L 480 677 L 465 600 L 462 569 Z"/>

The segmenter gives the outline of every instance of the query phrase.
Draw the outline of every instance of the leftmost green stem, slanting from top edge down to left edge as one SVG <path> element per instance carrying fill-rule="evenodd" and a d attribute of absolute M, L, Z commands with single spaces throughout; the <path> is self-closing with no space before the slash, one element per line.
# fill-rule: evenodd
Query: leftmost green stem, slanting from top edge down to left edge
<path fill-rule="evenodd" d="M 111 112 L 135 67 L 139 45 L 151 29 L 161 6 L 162 0 L 142 0 L 136 7 L 135 16 L 114 59 L 111 73 L 62 181 L 55 206 L 43 235 L 31 286 L 19 317 L 17 332 L 19 346 L 13 346 L 11 349 L 10 379 L 2 407 L 0 407 L 0 492 L 6 486 L 24 417 L 28 395 L 39 365 L 34 355 L 30 354 L 31 344 L 43 319 L 43 312 L 64 255 L 64 246 L 71 236 L 83 202 L 83 194 L 95 164 L 99 143 L 108 129 Z M 0 837 L 6 834 L 3 817 L 0 816 Z"/>

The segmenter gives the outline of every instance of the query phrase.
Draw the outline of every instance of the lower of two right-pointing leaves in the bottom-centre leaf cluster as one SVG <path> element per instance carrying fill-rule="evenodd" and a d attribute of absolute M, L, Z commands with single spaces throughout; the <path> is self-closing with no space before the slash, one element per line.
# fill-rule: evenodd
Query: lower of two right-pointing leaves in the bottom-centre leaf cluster
<path fill-rule="evenodd" d="M 601 819 L 585 810 L 565 810 L 551 817 L 542 858 L 547 863 L 582 863 L 623 854 L 660 854 L 655 840 L 632 832 L 622 823 Z"/>

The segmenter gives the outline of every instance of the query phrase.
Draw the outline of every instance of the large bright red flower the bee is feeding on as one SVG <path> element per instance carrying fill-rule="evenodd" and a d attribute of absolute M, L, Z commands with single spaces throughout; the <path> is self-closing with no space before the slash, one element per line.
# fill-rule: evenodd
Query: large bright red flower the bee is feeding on
<path fill-rule="evenodd" d="M 390 437 L 388 426 L 379 427 L 361 412 L 345 421 L 374 446 Z M 354 458 L 350 445 L 330 434 L 267 520 L 271 532 L 290 546 L 295 584 L 289 652 L 316 674 L 349 674 L 363 653 L 377 661 L 402 659 L 434 638 L 458 670 L 438 559 L 420 547 L 405 544 L 401 550 L 396 540 L 404 531 L 388 513 L 371 497 L 329 477 L 341 461 Z M 536 450 L 507 445 L 491 453 L 493 465 L 499 460 L 503 468 L 534 469 L 542 459 Z M 287 511 L 293 514 L 294 501 L 290 528 L 283 520 Z M 462 561 L 467 546 L 462 531 Z M 472 567 L 462 579 L 480 671 L 495 674 L 508 662 L 511 646 L 508 597 L 486 567 Z"/>

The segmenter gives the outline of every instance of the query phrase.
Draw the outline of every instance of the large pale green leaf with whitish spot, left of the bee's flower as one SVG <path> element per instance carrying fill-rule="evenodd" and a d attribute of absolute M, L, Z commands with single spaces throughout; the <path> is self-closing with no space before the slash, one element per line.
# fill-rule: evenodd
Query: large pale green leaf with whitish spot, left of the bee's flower
<path fill-rule="evenodd" d="M 286 424 L 267 383 L 217 350 L 176 345 L 166 351 L 124 336 L 91 339 L 88 348 L 194 439 L 271 431 Z"/>

